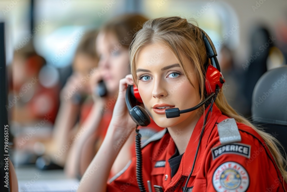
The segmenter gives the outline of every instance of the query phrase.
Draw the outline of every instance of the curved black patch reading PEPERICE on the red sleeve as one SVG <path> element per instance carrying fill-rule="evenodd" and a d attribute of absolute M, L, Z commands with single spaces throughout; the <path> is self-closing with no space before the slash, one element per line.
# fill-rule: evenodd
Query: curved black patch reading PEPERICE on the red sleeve
<path fill-rule="evenodd" d="M 242 155 L 244 157 L 250 158 L 250 145 L 245 145 L 243 143 L 232 143 L 220 145 L 218 147 L 212 148 L 212 158 L 216 159 L 222 154 L 236 154 Z"/>

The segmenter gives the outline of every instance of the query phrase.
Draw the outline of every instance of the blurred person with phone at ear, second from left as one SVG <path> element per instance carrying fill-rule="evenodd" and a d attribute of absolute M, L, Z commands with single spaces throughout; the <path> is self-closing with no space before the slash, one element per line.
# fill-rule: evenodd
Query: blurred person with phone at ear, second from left
<path fill-rule="evenodd" d="M 72 64 L 73 73 L 60 93 L 61 104 L 53 138 L 45 145 L 45 155 L 36 162 L 41 169 L 64 166 L 70 143 L 74 140 L 73 136 L 80 131 L 82 123 L 90 113 L 93 105 L 90 83 L 99 60 L 95 49 L 96 37 L 96 30 L 86 32 L 77 46 Z"/>

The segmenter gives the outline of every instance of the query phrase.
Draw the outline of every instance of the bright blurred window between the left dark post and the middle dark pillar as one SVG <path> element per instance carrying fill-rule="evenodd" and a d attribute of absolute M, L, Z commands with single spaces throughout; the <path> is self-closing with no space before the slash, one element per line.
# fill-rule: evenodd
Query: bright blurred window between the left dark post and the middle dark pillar
<path fill-rule="evenodd" d="M 110 7 L 108 7 L 108 5 Z M 48 64 L 63 67 L 71 64 L 83 33 L 90 28 L 98 28 L 112 14 L 120 14 L 124 9 L 124 1 L 111 4 L 110 1 L 36 1 L 35 26 L 48 20 L 43 30 L 35 37 L 35 47 L 47 58 Z M 106 11 L 106 13 L 102 10 Z M 100 14 L 98 14 L 100 12 Z M 102 14 L 102 12 L 104 14 Z M 68 50 L 65 48 L 68 47 Z"/>

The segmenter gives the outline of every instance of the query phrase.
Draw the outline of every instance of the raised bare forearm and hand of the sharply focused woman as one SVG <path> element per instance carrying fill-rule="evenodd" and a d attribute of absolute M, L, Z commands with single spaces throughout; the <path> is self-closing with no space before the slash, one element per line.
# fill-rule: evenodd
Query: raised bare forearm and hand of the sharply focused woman
<path fill-rule="evenodd" d="M 131 75 L 127 75 L 120 80 L 119 94 L 108 131 L 100 149 L 82 177 L 82 181 L 84 180 L 85 184 L 79 186 L 78 192 L 90 191 L 90 189 L 106 191 L 107 179 L 112 165 L 123 144 L 136 127 L 136 123 L 129 116 L 125 103 L 127 85 L 133 85 Z M 96 174 L 92 174 L 91 177 L 90 173 L 94 172 L 95 166 L 98 167 Z"/>

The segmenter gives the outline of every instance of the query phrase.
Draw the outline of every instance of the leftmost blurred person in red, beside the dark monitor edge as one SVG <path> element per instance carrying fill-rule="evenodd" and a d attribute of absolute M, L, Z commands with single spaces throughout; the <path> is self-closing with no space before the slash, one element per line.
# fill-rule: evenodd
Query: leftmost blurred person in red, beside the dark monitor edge
<path fill-rule="evenodd" d="M 58 110 L 58 86 L 45 86 L 41 81 L 40 71 L 44 68 L 46 60 L 34 50 L 32 42 L 14 52 L 12 61 L 12 89 L 17 102 L 15 106 L 8 107 L 13 110 L 13 121 L 20 124 L 34 124 L 39 120 L 47 119 L 54 123 Z M 40 80 L 39 80 L 40 79 Z M 19 97 L 18 97 L 19 96 Z M 14 99 L 13 98 L 13 99 Z M 10 98 L 9 98 L 10 100 Z"/>

